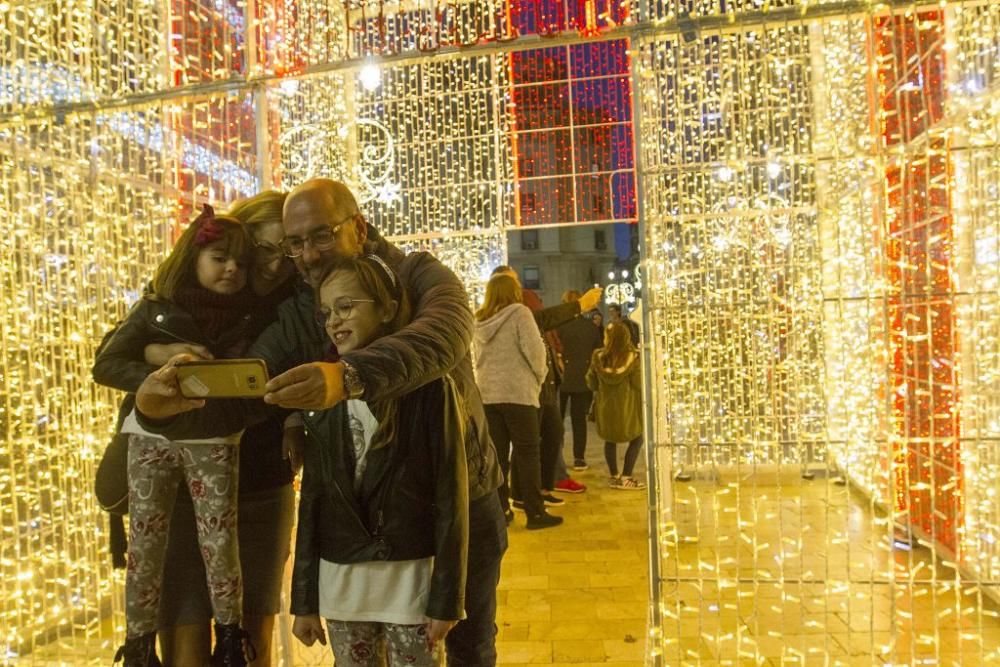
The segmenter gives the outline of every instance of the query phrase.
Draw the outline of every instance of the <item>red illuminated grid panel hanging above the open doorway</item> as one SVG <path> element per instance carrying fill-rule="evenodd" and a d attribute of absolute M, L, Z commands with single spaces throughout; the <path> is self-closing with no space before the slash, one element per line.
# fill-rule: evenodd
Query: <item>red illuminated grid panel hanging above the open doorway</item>
<path fill-rule="evenodd" d="M 510 54 L 519 225 L 635 220 L 628 52 L 613 40 Z"/>

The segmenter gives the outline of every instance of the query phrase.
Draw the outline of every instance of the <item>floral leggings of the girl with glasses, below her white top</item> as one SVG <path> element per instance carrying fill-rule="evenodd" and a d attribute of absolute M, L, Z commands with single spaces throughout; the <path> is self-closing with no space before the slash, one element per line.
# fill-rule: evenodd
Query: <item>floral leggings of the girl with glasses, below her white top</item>
<path fill-rule="evenodd" d="M 337 667 L 380 667 L 385 664 L 380 650 L 383 643 L 389 667 L 434 667 L 438 664 L 436 651 L 427 647 L 427 626 L 424 624 L 396 625 L 328 619 L 326 625 Z"/>

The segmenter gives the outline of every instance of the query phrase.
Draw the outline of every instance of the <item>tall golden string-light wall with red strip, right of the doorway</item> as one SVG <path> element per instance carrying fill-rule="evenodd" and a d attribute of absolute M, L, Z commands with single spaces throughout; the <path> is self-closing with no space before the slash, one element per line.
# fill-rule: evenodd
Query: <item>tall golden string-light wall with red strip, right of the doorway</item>
<path fill-rule="evenodd" d="M 642 42 L 664 664 L 1000 659 L 998 12 Z"/>

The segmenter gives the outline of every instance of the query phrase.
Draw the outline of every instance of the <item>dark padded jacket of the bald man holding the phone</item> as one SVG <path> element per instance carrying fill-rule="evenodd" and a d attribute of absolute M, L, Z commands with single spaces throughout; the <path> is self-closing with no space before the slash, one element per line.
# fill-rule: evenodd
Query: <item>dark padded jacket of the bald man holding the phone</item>
<path fill-rule="evenodd" d="M 503 480 L 496 451 L 486 427 L 483 401 L 472 372 L 469 352 L 473 320 L 462 282 L 433 255 L 402 251 L 368 226 L 368 250 L 399 274 L 413 302 L 413 320 L 391 336 L 343 356 L 357 369 L 365 387 L 361 397 L 374 402 L 398 398 L 447 374 L 462 397 L 468 423 L 465 453 L 468 457 L 469 499 L 493 493 Z M 316 319 L 314 290 L 302 285 L 278 309 L 271 325 L 247 353 L 267 362 L 271 375 L 328 357 L 330 339 Z M 162 423 L 140 422 L 153 433 L 172 439 L 211 437 L 239 430 L 253 420 L 246 401 L 208 401 L 201 410 L 186 412 Z M 259 401 L 255 403 L 259 408 Z M 235 428 L 234 428 L 235 426 Z M 228 430 L 227 430 L 228 429 Z"/>

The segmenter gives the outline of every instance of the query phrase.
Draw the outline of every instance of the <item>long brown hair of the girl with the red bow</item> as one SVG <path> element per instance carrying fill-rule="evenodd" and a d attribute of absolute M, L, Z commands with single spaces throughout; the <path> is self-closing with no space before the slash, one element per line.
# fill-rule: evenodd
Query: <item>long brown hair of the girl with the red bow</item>
<path fill-rule="evenodd" d="M 174 301 L 183 287 L 198 285 L 198 254 L 209 243 L 223 240 L 226 253 L 248 264 L 250 238 L 240 221 L 228 215 L 215 215 L 210 206 L 205 207 L 195 220 L 181 233 L 173 250 L 160 262 L 153 275 L 153 294 L 165 301 Z"/>

